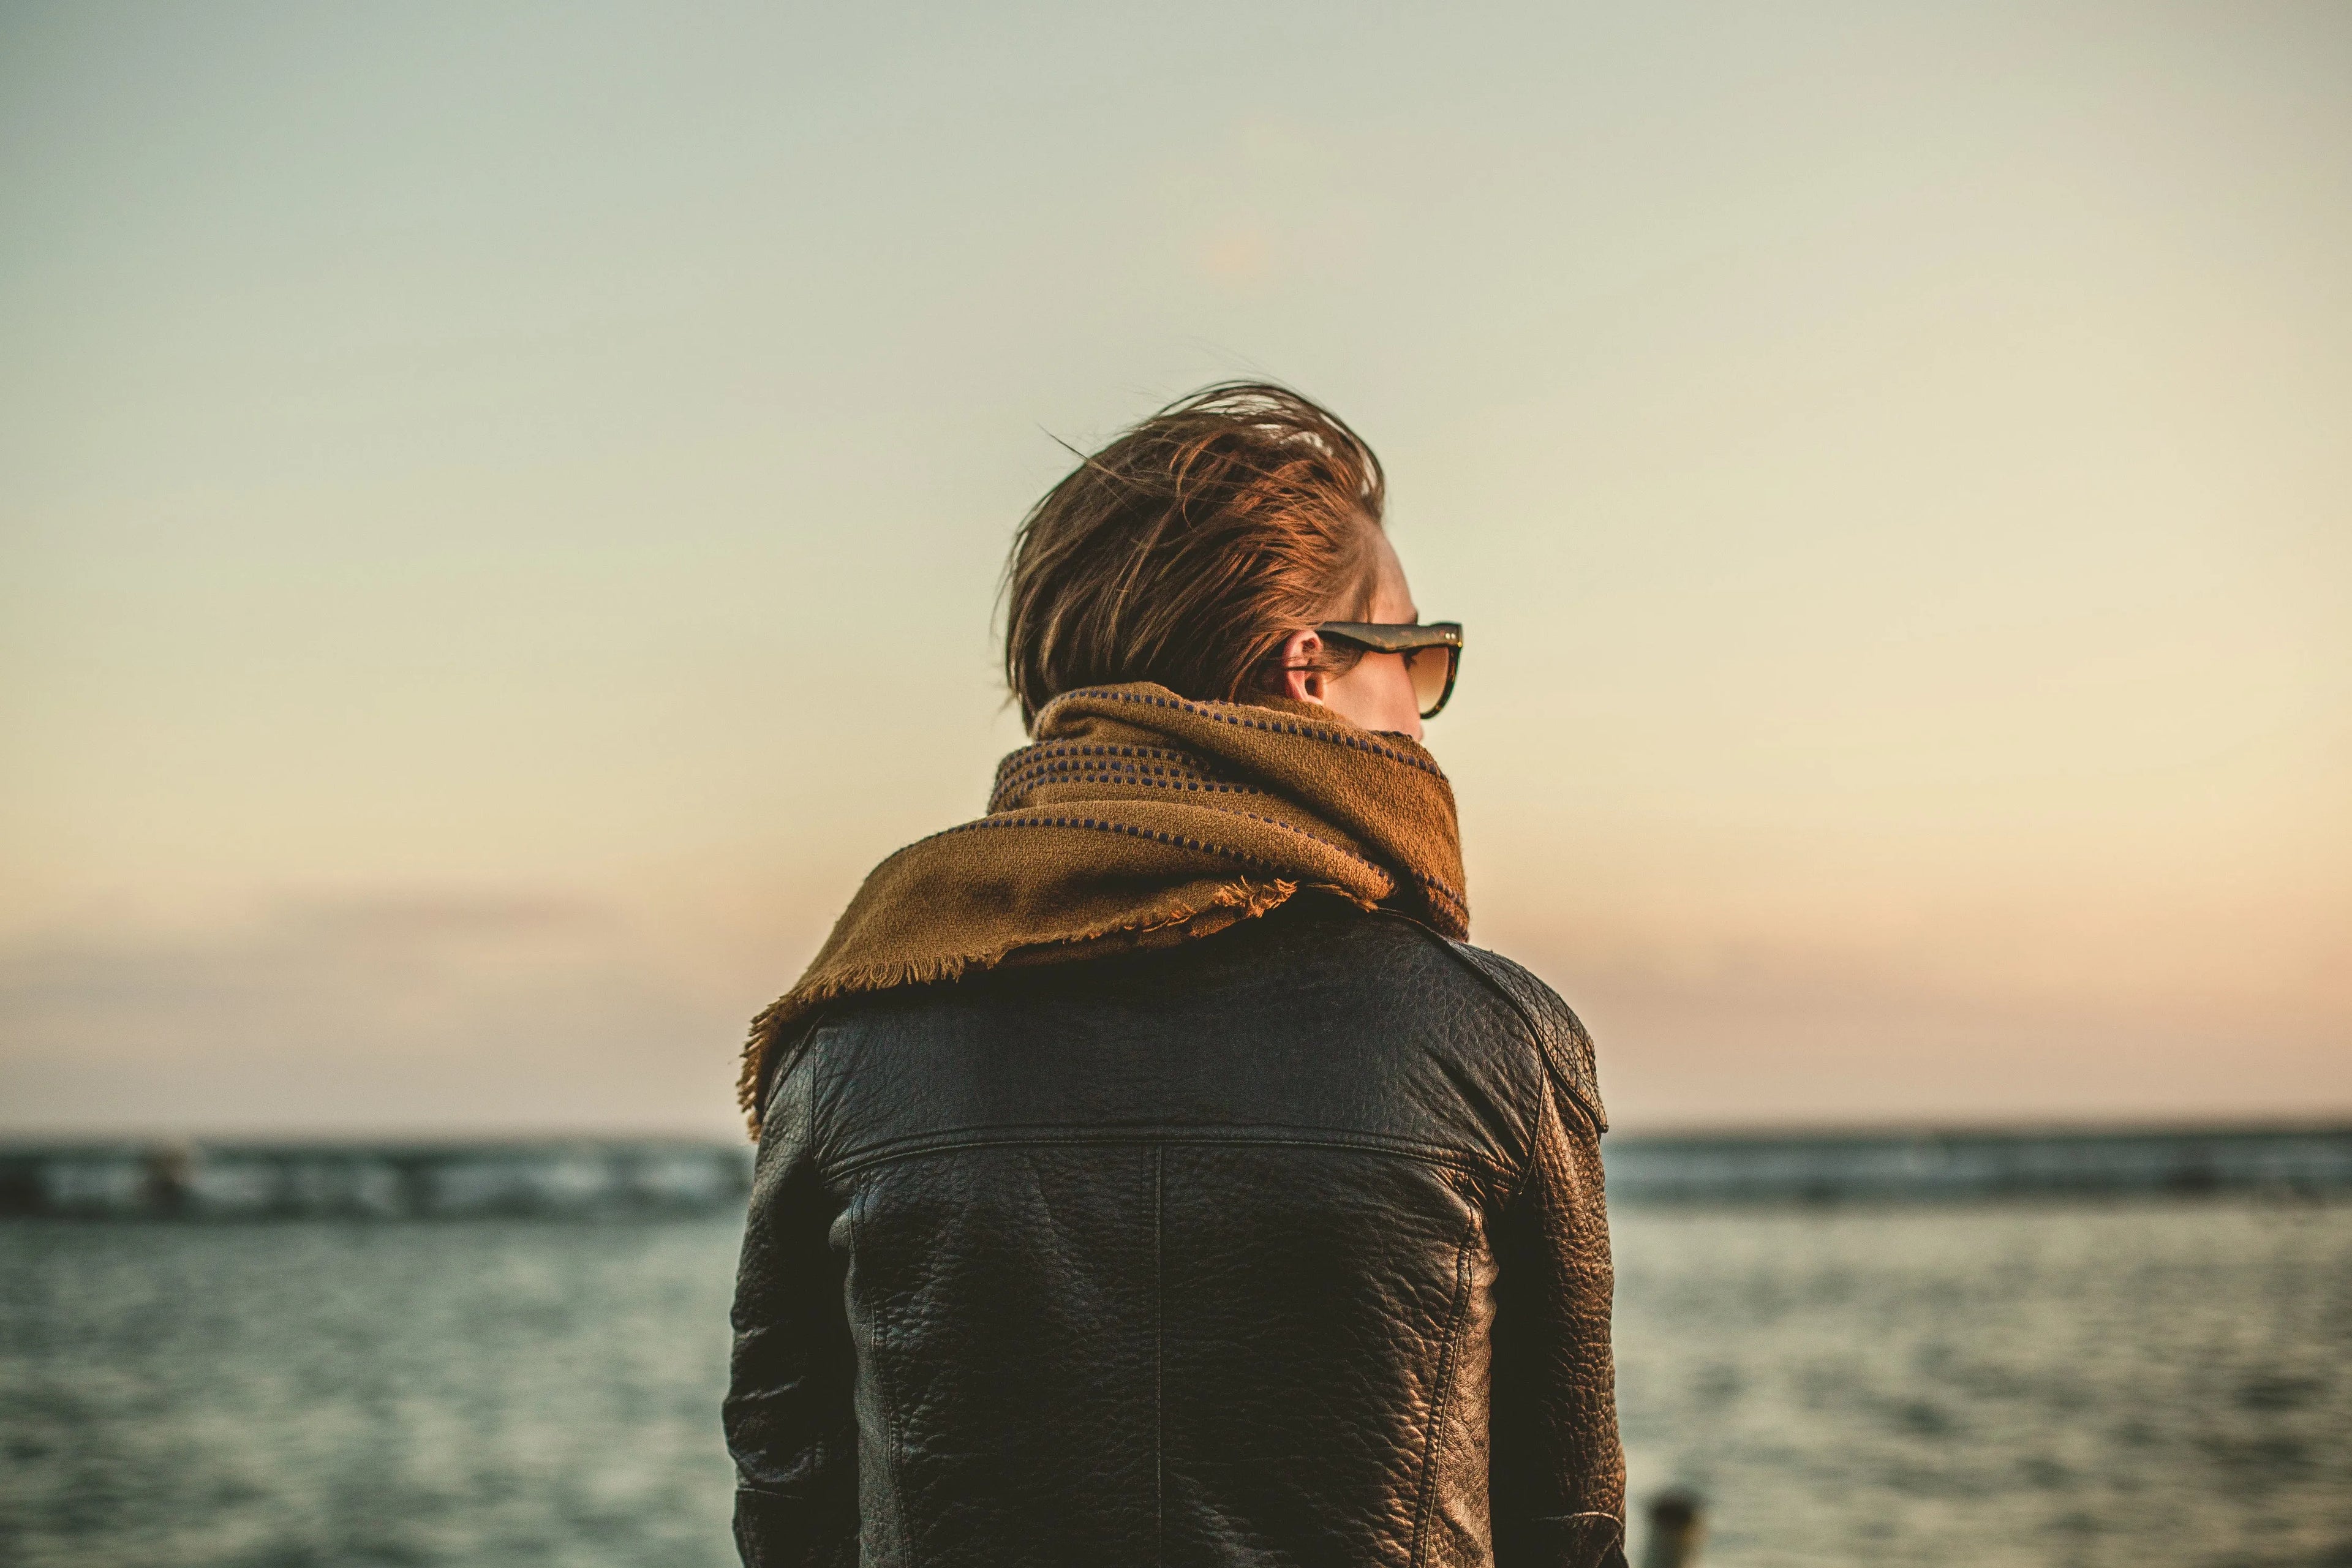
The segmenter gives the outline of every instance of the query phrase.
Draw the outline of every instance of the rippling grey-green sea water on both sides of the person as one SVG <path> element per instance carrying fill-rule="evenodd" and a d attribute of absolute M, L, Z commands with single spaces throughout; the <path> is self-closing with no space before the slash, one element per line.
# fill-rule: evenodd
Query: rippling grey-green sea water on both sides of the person
<path fill-rule="evenodd" d="M 1698 1490 L 1705 1563 L 2352 1568 L 2352 1206 L 1613 1225 L 1635 1512 Z M 0 1563 L 731 1563 L 734 1248 L 0 1225 Z"/>

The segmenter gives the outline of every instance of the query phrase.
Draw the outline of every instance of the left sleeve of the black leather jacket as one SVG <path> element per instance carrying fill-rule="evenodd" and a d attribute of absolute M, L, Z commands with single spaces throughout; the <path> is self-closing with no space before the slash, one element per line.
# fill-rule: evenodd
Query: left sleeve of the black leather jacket
<path fill-rule="evenodd" d="M 736 1462 L 736 1552 L 746 1568 L 858 1561 L 856 1352 L 840 1206 L 811 1150 L 809 1056 L 769 1093 L 736 1269 L 727 1450 Z"/>

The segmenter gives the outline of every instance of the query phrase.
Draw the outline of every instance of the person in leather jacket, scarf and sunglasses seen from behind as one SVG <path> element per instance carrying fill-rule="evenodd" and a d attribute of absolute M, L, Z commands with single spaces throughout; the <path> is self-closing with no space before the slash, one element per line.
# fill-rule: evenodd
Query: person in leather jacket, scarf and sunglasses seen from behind
<path fill-rule="evenodd" d="M 753 1568 L 1623 1563 L 1592 1041 L 1468 945 L 1383 475 L 1277 386 L 1084 458 L 1033 743 L 753 1025 Z"/>

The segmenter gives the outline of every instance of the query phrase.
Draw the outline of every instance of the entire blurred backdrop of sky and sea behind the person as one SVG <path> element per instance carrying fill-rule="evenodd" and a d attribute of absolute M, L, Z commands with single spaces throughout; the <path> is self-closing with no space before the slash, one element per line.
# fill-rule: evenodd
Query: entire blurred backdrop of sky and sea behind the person
<path fill-rule="evenodd" d="M 2347 280 L 2319 0 L 0 7 L 0 1554 L 727 1561 L 743 1023 L 1061 442 L 1265 376 L 1470 628 L 1637 1495 L 2352 1563 Z"/>

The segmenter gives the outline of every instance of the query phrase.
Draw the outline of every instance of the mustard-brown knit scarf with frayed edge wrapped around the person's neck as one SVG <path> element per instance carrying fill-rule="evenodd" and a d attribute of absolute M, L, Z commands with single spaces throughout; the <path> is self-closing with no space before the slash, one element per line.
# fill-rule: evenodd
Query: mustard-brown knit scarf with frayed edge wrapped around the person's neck
<path fill-rule="evenodd" d="M 760 1135 L 776 1046 L 835 997 L 1223 931 L 1298 889 L 1470 933 L 1454 788 L 1404 736 L 1317 703 L 1089 686 L 1037 715 L 988 816 L 877 865 L 800 985 L 750 1025 Z"/>

